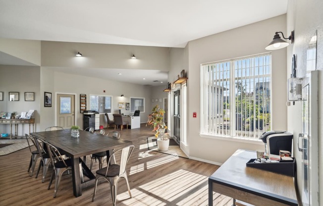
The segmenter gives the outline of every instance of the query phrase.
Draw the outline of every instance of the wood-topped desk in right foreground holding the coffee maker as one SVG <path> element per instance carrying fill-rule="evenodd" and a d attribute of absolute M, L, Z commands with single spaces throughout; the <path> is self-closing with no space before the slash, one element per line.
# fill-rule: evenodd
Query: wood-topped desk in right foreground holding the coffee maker
<path fill-rule="evenodd" d="M 247 167 L 251 158 L 256 152 L 237 150 L 209 177 L 209 206 L 213 192 L 255 206 L 297 206 L 293 177 Z"/>

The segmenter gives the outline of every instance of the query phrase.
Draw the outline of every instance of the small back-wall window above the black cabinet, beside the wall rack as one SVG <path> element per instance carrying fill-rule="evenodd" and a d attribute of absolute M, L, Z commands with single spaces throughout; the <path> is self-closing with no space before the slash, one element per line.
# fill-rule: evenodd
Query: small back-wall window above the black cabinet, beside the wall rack
<path fill-rule="evenodd" d="M 95 110 L 99 113 L 111 113 L 111 107 L 111 96 L 90 95 L 90 110 Z"/>

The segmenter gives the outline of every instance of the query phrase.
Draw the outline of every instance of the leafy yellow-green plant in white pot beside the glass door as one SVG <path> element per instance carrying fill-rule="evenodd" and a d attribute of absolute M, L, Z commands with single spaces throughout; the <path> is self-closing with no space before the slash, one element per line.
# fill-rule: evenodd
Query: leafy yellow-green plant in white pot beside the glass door
<path fill-rule="evenodd" d="M 157 147 L 160 151 L 167 151 L 169 147 L 169 139 L 165 137 L 165 129 L 167 126 L 162 121 L 165 110 L 163 110 L 159 105 L 154 106 L 152 113 L 148 115 L 147 125 L 151 125 L 155 132 L 155 137 L 157 139 Z"/>

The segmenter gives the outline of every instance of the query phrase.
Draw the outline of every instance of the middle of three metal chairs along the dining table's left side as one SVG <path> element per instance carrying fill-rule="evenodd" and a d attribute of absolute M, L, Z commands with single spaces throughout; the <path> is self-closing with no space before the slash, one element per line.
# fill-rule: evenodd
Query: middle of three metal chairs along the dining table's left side
<path fill-rule="evenodd" d="M 39 139 L 37 137 L 34 136 L 34 139 L 35 139 L 35 146 L 38 150 L 38 153 L 40 154 L 40 157 L 41 157 L 41 160 L 39 162 L 39 165 L 38 165 L 38 170 L 37 170 L 37 173 L 36 173 L 36 176 L 35 178 L 38 177 L 38 174 L 39 174 L 39 171 L 40 171 L 40 168 L 43 166 L 43 178 L 42 178 L 42 182 L 45 182 L 45 177 L 46 177 L 46 173 L 47 173 L 47 170 L 50 166 L 50 163 L 51 163 L 51 157 L 48 153 L 48 151 L 45 151 L 43 149 L 43 146 L 40 144 L 42 143 L 43 145 L 45 145 L 45 141 L 42 140 L 42 139 Z"/>

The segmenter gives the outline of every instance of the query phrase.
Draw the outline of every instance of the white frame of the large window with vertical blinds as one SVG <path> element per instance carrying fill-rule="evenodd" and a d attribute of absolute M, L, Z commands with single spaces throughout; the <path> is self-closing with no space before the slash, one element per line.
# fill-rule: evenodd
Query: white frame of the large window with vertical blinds
<path fill-rule="evenodd" d="M 210 62 L 210 63 L 205 63 L 205 64 L 201 64 L 201 132 L 200 132 L 200 136 L 201 137 L 206 137 L 206 138 L 213 138 L 213 139 L 221 139 L 221 140 L 230 140 L 230 141 L 239 141 L 239 142 L 248 142 L 248 143 L 255 143 L 255 144 L 260 144 L 261 141 L 258 140 L 258 138 L 255 137 L 243 137 L 243 136 L 237 136 L 236 135 L 236 131 L 235 131 L 235 112 L 230 112 L 230 129 L 229 129 L 229 134 L 227 135 L 222 135 L 222 134 L 214 134 L 212 132 L 206 131 L 206 125 L 208 124 L 208 119 L 207 119 L 207 105 L 208 103 L 206 103 L 205 101 L 207 100 L 206 98 L 206 85 L 207 82 L 206 81 L 210 81 L 209 79 L 207 79 L 206 75 L 208 75 L 204 69 L 204 66 L 208 66 L 208 65 L 212 65 L 212 64 L 218 64 L 218 63 L 224 63 L 224 62 L 229 62 L 230 63 L 230 88 L 235 88 L 235 80 L 237 79 L 234 75 L 235 71 L 234 71 L 234 62 L 237 60 L 242 60 L 242 59 L 249 59 L 249 58 L 254 58 L 254 57 L 260 57 L 260 56 L 266 56 L 266 55 L 270 55 L 270 74 L 267 74 L 265 76 L 269 76 L 270 79 L 270 119 L 272 116 L 272 95 L 271 95 L 271 84 L 272 84 L 272 78 L 271 78 L 271 73 L 272 73 L 272 56 L 271 56 L 271 52 L 268 53 L 262 53 L 262 54 L 257 54 L 257 55 L 251 55 L 251 56 L 244 56 L 244 57 L 240 57 L 240 58 L 233 58 L 233 59 L 227 59 L 227 60 L 222 60 L 222 61 L 216 61 L 216 62 Z M 232 72 L 233 71 L 233 72 Z M 262 75 L 258 76 L 258 77 L 262 77 Z M 255 77 L 253 77 L 255 78 Z M 248 77 L 245 79 L 249 79 Z M 216 92 L 215 92 L 216 93 Z M 233 106 L 234 105 L 234 106 Z M 230 107 L 229 107 L 230 111 L 235 111 L 235 89 L 231 89 L 230 90 Z M 272 121 L 270 121 L 270 128 L 272 128 Z M 261 134 L 258 134 L 261 135 Z"/>

